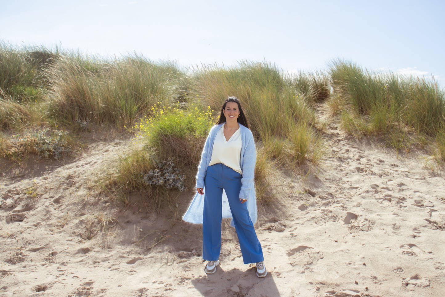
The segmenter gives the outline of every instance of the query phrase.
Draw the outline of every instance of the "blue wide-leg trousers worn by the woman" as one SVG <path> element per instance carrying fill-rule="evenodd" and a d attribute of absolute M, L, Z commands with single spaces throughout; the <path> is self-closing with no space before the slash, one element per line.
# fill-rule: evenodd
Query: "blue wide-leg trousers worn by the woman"
<path fill-rule="evenodd" d="M 226 191 L 238 235 L 244 264 L 263 261 L 263 250 L 255 233 L 246 203 L 239 201 L 241 174 L 221 163 L 207 167 L 204 178 L 204 218 L 202 222 L 202 259 L 215 261 L 221 252 L 223 189 Z"/>

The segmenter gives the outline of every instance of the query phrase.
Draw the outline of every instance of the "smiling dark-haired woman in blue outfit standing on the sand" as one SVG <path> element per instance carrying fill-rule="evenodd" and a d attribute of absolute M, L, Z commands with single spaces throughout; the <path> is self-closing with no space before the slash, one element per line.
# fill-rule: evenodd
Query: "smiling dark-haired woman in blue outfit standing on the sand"
<path fill-rule="evenodd" d="M 267 275 L 253 226 L 257 218 L 255 163 L 255 143 L 246 115 L 239 99 L 228 97 L 207 136 L 196 175 L 197 193 L 183 216 L 186 222 L 202 223 L 207 274 L 214 273 L 219 264 L 221 220 L 232 218 L 244 264 L 256 263 L 256 275 Z"/>

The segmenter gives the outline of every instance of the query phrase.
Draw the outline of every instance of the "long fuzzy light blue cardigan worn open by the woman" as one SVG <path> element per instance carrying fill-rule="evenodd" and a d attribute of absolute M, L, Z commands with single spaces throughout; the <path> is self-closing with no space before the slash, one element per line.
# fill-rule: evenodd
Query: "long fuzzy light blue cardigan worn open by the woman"
<path fill-rule="evenodd" d="M 198 166 L 198 173 L 196 174 L 196 188 L 204 188 L 204 177 L 206 176 L 207 166 L 210 163 L 213 152 L 213 143 L 215 136 L 218 134 L 219 128 L 223 124 L 214 125 L 207 136 L 206 143 L 201 154 L 201 161 Z M 252 223 L 255 224 L 257 219 L 257 208 L 256 208 L 256 196 L 255 196 L 255 185 L 254 185 L 254 173 L 255 173 L 255 163 L 256 163 L 256 152 L 255 152 L 255 142 L 253 139 L 252 132 L 239 124 L 239 129 L 241 132 L 241 170 L 243 171 L 243 176 L 241 177 L 241 190 L 239 192 L 239 198 L 247 199 L 247 210 L 249 210 L 249 215 Z M 205 191 L 205 189 L 204 189 Z M 227 196 L 223 191 L 223 218 L 232 218 L 232 213 L 230 211 L 229 202 L 227 201 Z M 196 193 L 192 202 L 190 203 L 186 213 L 182 219 L 189 223 L 202 224 L 202 216 L 204 212 L 204 195 Z M 233 220 L 231 225 L 233 226 Z"/>

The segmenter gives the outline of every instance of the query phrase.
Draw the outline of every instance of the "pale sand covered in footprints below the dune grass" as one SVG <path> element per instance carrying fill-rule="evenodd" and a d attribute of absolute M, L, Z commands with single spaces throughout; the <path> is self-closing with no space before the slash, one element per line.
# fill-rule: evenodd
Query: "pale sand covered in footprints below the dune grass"
<path fill-rule="evenodd" d="M 276 199 L 255 224 L 262 279 L 228 220 L 206 275 L 200 225 L 91 188 L 131 140 L 97 141 L 69 162 L 1 160 L 0 296 L 445 296 L 443 175 L 421 149 L 397 155 L 335 121 L 326 136 L 316 170 L 271 176 Z M 192 196 L 179 196 L 179 215 Z"/>

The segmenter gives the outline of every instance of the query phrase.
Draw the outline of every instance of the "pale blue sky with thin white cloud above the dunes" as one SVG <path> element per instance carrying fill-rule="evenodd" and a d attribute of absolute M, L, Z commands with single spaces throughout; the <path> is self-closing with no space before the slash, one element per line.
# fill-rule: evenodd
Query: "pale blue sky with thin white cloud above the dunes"
<path fill-rule="evenodd" d="M 0 0 L 0 40 L 180 65 L 240 60 L 285 71 L 332 59 L 434 75 L 445 87 L 443 0 Z"/>

